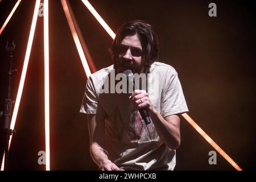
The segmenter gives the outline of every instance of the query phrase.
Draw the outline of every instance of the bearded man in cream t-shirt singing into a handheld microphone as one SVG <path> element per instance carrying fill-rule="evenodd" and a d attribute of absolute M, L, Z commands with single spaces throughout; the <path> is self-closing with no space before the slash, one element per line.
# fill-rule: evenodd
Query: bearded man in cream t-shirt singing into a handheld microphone
<path fill-rule="evenodd" d="M 114 64 L 90 75 L 80 110 L 88 114 L 94 162 L 100 170 L 173 170 L 180 145 L 179 114 L 188 107 L 177 72 L 158 61 L 157 32 L 141 20 L 123 24 L 110 53 Z M 132 93 L 117 92 L 117 75 L 127 70 L 146 79 L 140 78 Z M 152 121 L 148 125 L 141 110 Z"/>

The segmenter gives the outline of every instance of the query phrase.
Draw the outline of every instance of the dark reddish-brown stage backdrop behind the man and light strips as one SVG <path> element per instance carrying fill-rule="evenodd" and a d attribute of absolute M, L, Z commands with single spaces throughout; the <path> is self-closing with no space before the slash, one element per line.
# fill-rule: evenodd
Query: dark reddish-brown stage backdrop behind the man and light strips
<path fill-rule="evenodd" d="M 0 3 L 0 24 L 16 1 Z M 217 5 L 217 17 L 208 5 Z M 158 30 L 160 61 L 179 73 L 189 115 L 242 169 L 255 163 L 255 10 L 249 1 L 96 1 L 90 3 L 114 32 L 121 24 L 143 19 Z M 79 0 L 72 9 L 97 69 L 112 64 L 112 38 Z M 34 1 L 22 1 L 0 36 L 0 109 L 7 96 L 9 61 L 6 40 L 14 39 L 12 98 L 22 72 Z M 38 17 L 26 81 L 10 147 L 10 169 L 44 170 L 38 152 L 44 146 L 43 17 Z M 50 139 L 52 170 L 94 170 L 89 154 L 87 117 L 79 113 L 86 75 L 60 1 L 49 2 Z M 2 123 L 2 122 L 1 122 Z M 2 139 L 2 138 L 1 138 Z M 176 170 L 234 170 L 181 117 L 181 146 Z"/>

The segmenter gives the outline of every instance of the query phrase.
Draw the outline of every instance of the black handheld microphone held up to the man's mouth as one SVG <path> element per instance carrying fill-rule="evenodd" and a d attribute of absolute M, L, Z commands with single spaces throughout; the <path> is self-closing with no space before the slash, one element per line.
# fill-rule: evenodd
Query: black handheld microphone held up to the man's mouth
<path fill-rule="evenodd" d="M 126 71 L 123 72 L 126 77 L 128 78 L 128 82 L 129 82 L 129 90 L 130 90 L 130 86 L 133 86 L 133 90 L 137 90 L 137 86 L 135 84 L 135 80 L 134 80 L 134 76 L 133 76 L 133 72 L 130 69 L 127 69 Z M 146 125 L 151 123 L 151 118 L 148 115 L 148 111 L 146 108 L 142 108 L 139 109 L 139 113 L 141 114 L 141 117 L 143 118 L 144 122 L 146 123 Z"/>

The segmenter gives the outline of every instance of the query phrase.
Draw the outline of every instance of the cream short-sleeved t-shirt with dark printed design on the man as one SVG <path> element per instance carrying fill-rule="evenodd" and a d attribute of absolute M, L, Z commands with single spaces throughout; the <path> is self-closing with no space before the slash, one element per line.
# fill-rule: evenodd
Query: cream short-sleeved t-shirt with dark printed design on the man
<path fill-rule="evenodd" d="M 135 111 L 129 93 L 102 93 L 113 65 L 88 78 L 81 113 L 105 115 L 105 146 L 112 162 L 125 170 L 173 170 L 175 150 L 159 139 L 154 122 L 149 125 Z M 148 94 L 162 117 L 188 111 L 177 72 L 170 65 L 154 62 L 148 73 L 158 81 L 147 80 Z M 104 137 L 104 136 L 102 136 Z"/>

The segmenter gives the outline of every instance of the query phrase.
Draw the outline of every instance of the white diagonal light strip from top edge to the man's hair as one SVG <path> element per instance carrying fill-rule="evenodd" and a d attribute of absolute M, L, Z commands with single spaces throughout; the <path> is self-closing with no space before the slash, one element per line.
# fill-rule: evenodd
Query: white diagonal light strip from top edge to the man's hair
<path fill-rule="evenodd" d="M 101 16 L 97 13 L 97 11 L 94 9 L 94 7 L 89 3 L 88 0 L 82 0 L 82 2 L 84 3 L 84 5 L 88 8 L 88 10 L 90 11 L 90 13 L 93 14 L 93 16 L 98 20 L 98 22 L 101 24 L 101 26 L 106 30 L 106 32 L 108 32 L 108 34 L 112 37 L 112 39 L 115 38 L 115 33 L 113 32 L 113 30 L 108 26 L 108 24 L 106 24 L 106 22 L 104 21 L 104 19 L 101 18 Z"/>

